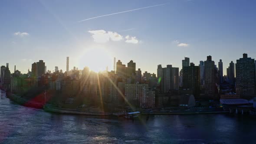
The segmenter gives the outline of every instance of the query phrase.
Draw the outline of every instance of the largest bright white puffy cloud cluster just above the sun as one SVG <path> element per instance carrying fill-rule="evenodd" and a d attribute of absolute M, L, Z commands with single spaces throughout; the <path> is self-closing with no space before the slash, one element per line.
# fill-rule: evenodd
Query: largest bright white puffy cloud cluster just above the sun
<path fill-rule="evenodd" d="M 121 41 L 123 39 L 123 36 L 118 34 L 117 32 L 108 31 L 105 30 L 89 30 L 89 33 L 92 34 L 92 38 L 97 43 L 106 43 L 108 41 Z M 138 43 L 138 39 L 135 36 L 125 36 L 125 43 Z"/>

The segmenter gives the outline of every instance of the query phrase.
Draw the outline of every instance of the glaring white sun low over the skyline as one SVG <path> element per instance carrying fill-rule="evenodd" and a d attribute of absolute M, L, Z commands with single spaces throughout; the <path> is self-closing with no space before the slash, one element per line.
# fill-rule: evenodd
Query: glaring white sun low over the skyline
<path fill-rule="evenodd" d="M 112 69 L 111 65 L 113 57 L 110 52 L 108 52 L 103 47 L 92 46 L 89 49 L 85 49 L 80 57 L 79 66 L 83 69 L 85 66 L 88 66 L 91 71 L 101 72 L 108 69 Z"/>

